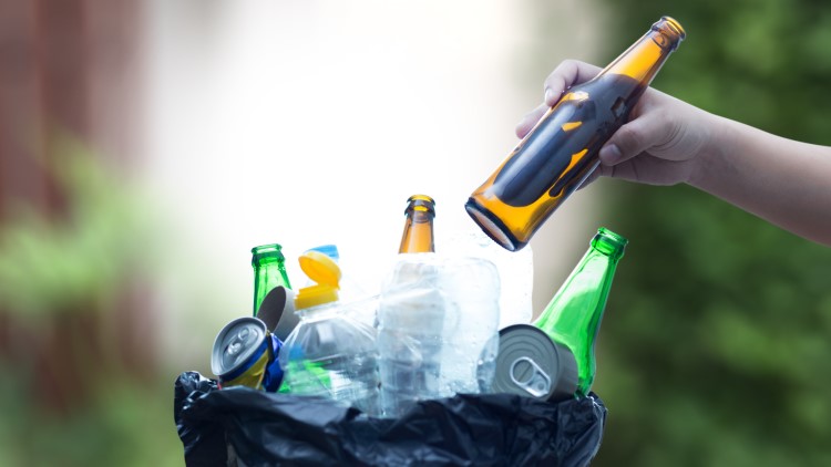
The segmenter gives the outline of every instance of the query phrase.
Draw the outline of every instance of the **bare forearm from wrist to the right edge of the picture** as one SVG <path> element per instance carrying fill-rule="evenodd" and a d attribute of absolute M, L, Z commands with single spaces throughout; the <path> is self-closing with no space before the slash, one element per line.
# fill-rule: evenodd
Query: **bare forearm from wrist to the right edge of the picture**
<path fill-rule="evenodd" d="M 718 116 L 689 184 L 793 234 L 831 246 L 831 147 Z"/>

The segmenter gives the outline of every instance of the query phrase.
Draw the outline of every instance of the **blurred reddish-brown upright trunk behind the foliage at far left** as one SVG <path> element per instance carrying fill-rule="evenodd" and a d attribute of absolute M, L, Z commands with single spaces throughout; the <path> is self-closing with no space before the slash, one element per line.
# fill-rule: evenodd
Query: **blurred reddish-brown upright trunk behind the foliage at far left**
<path fill-rule="evenodd" d="M 135 159 L 141 4 L 0 0 L 0 232 L 18 206 L 55 221 L 70 215 L 71 196 L 50 170 L 50 162 L 64 156 L 54 132 L 68 132 L 122 172 Z M 91 394 L 90 376 L 112 370 L 103 362 L 119 362 L 141 377 L 152 364 L 142 344 L 153 326 L 145 294 L 135 290 L 124 284 L 126 305 L 115 310 L 95 309 L 95 298 L 65 303 L 37 332 L 0 303 L 0 360 L 30 373 L 37 403 L 59 413 Z M 116 330 L 115 339 L 102 335 L 107 329 Z M 20 342 L 25 344 L 14 344 Z"/>

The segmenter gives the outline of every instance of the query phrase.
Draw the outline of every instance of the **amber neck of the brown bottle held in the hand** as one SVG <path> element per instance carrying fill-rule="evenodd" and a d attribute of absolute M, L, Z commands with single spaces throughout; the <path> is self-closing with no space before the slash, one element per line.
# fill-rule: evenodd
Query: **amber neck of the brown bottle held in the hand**
<path fill-rule="evenodd" d="M 677 21 L 667 17 L 661 18 L 637 42 L 603 69 L 598 77 L 608 74 L 624 75 L 646 87 L 684 38 L 684 29 Z"/>

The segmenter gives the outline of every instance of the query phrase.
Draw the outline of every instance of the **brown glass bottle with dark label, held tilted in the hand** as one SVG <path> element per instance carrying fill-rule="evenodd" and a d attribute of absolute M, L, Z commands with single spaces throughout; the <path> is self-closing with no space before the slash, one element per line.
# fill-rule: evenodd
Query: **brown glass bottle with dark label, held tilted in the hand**
<path fill-rule="evenodd" d="M 663 17 L 597 76 L 568 89 L 468 199 L 482 230 L 507 250 L 522 249 L 597 167 L 601 147 L 684 38 Z"/>

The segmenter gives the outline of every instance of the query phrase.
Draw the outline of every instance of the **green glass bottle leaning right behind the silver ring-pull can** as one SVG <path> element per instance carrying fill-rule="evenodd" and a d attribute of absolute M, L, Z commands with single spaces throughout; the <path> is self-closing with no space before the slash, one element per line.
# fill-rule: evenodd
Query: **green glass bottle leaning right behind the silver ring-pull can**
<path fill-rule="evenodd" d="M 601 227 L 589 248 L 534 325 L 567 346 L 577 360 L 577 396 L 585 396 L 595 375 L 594 342 L 617 262 L 628 240 Z"/>

